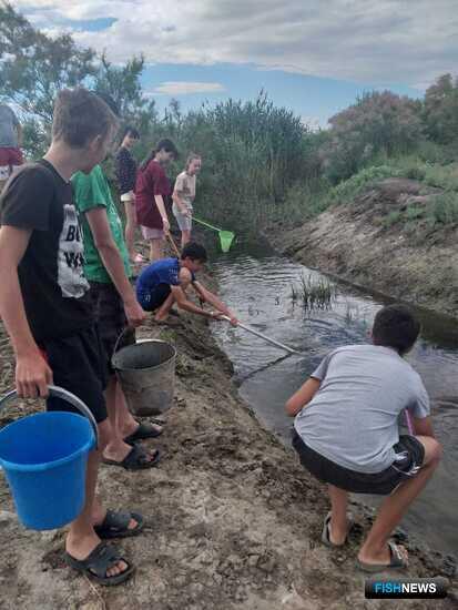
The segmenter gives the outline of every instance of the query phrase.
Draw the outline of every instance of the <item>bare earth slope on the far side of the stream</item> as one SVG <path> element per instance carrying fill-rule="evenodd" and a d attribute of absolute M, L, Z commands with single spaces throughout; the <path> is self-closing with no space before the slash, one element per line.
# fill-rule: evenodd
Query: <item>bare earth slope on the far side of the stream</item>
<path fill-rule="evenodd" d="M 276 230 L 273 243 L 322 272 L 456 316 L 458 227 L 438 228 L 426 220 L 389 226 L 393 212 L 421 210 L 434 194 L 416 181 L 385 180 L 298 228 Z"/>

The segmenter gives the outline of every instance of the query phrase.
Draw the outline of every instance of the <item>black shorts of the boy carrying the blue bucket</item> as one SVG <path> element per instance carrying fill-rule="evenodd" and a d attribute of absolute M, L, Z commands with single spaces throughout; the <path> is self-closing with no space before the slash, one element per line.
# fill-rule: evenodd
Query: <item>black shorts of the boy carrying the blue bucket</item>
<path fill-rule="evenodd" d="M 95 327 L 79 331 L 60 339 L 44 340 L 40 348 L 52 370 L 55 386 L 80 398 L 100 424 L 106 419 L 103 392 L 108 370 L 105 355 Z M 48 398 L 48 410 L 79 413 L 61 398 Z"/>

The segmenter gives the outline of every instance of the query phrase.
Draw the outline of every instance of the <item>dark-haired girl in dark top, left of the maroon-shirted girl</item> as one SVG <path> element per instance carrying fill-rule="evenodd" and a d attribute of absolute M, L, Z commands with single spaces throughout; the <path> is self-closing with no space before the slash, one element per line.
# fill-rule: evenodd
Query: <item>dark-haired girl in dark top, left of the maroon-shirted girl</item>
<path fill-rule="evenodd" d="M 115 174 L 125 210 L 125 245 L 132 263 L 143 263 L 144 258 L 134 251 L 136 214 L 135 214 L 135 181 L 136 163 L 132 155 L 133 146 L 139 142 L 140 134 L 135 128 L 128 125 L 122 135 L 121 146 L 115 156 Z"/>

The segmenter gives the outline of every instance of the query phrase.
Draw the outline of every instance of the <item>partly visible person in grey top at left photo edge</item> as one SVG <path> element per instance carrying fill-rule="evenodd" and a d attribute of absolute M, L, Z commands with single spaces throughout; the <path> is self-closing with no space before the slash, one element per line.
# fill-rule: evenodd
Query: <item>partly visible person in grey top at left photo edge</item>
<path fill-rule="evenodd" d="M 14 167 L 22 165 L 21 124 L 7 104 L 0 103 L 0 193 Z"/>

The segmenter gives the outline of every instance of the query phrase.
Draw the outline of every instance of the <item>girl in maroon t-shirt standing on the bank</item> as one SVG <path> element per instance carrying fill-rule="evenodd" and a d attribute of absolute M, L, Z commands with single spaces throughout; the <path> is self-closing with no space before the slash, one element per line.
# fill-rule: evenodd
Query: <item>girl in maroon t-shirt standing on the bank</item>
<path fill-rule="evenodd" d="M 151 261 L 162 258 L 164 240 L 170 233 L 165 199 L 171 194 L 171 186 L 164 167 L 177 156 L 175 144 L 167 139 L 161 140 L 136 174 L 136 220 L 143 237 L 150 242 Z"/>

